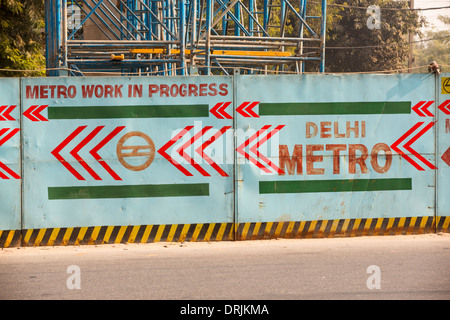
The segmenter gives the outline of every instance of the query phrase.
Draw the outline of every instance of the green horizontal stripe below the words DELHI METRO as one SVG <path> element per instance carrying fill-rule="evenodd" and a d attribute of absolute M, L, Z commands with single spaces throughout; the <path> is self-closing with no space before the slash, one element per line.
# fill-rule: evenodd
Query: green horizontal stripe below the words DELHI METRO
<path fill-rule="evenodd" d="M 411 190 L 411 178 L 309 181 L 260 181 L 259 193 L 311 193 Z"/>

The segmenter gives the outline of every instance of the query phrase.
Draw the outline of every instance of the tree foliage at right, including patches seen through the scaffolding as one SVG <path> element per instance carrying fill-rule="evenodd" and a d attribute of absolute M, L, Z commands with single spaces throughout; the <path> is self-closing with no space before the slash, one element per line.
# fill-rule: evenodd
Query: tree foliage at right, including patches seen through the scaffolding
<path fill-rule="evenodd" d="M 273 0 L 275 1 L 275 0 Z M 298 9 L 297 2 L 291 3 Z M 408 1 L 328 0 L 326 17 L 326 72 L 372 72 L 407 67 L 409 35 L 420 35 L 425 19 L 409 10 Z M 371 6 L 379 7 L 379 26 L 373 22 Z M 321 15 L 321 1 L 308 1 L 308 16 Z M 279 9 L 275 9 L 279 10 Z M 313 30 L 320 30 L 321 19 L 307 19 Z M 269 24 L 277 24 L 279 20 Z M 281 36 L 280 34 L 274 34 Z M 304 29 L 305 37 L 311 37 Z M 299 36 L 299 20 L 290 10 L 286 15 L 284 36 Z M 288 49 L 289 50 L 289 49 Z M 303 53 L 318 56 L 318 48 L 305 43 Z M 319 62 L 306 62 L 307 72 L 316 72 Z"/>

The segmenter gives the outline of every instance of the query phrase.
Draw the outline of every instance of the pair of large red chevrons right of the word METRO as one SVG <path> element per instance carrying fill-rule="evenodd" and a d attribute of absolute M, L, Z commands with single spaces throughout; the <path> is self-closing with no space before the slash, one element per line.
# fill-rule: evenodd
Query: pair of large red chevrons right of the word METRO
<path fill-rule="evenodd" d="M 412 133 L 414 131 L 416 131 L 418 128 L 420 128 L 424 123 L 423 122 L 418 122 L 416 123 L 411 129 L 409 129 L 408 131 L 406 131 L 397 141 L 395 141 L 392 145 L 391 148 L 392 150 L 394 150 L 395 152 L 397 152 L 398 154 L 400 154 L 406 161 L 408 161 L 410 164 L 412 164 L 414 166 L 414 168 L 416 168 L 419 171 L 425 171 L 424 168 L 422 168 L 417 162 L 415 162 L 410 156 L 408 156 L 407 154 L 405 154 L 403 151 L 401 151 L 398 146 L 400 145 L 400 143 L 402 143 L 404 140 L 406 140 L 406 138 L 408 138 L 410 135 L 412 135 Z M 434 126 L 434 122 L 430 122 L 429 124 L 427 124 L 422 130 L 420 130 L 417 134 L 415 134 L 410 140 L 408 140 L 408 142 L 406 142 L 403 146 L 404 148 L 409 151 L 412 155 L 416 156 L 417 159 L 419 159 L 421 162 L 423 162 L 426 166 L 428 166 L 430 169 L 436 169 L 436 167 L 430 163 L 427 159 L 425 159 L 424 157 L 422 157 L 417 151 L 415 151 L 411 145 L 417 141 L 423 134 L 425 134 L 425 132 L 427 132 L 431 127 Z"/>

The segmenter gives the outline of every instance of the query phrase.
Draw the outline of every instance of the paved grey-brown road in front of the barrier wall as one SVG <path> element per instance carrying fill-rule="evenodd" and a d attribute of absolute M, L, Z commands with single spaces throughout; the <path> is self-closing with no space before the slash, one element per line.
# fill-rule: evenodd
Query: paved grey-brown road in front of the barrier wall
<path fill-rule="evenodd" d="M 7 248 L 0 299 L 450 299 L 450 234 Z"/>

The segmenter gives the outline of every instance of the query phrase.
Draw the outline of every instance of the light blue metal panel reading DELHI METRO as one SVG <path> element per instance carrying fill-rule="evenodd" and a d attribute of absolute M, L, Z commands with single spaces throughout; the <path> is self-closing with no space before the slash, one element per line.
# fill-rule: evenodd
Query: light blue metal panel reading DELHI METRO
<path fill-rule="evenodd" d="M 236 79 L 238 222 L 434 215 L 433 75 Z"/>

